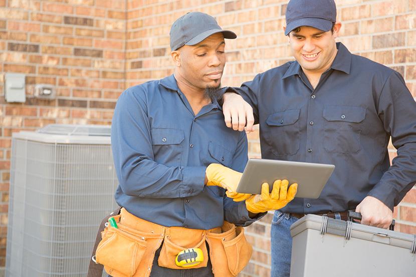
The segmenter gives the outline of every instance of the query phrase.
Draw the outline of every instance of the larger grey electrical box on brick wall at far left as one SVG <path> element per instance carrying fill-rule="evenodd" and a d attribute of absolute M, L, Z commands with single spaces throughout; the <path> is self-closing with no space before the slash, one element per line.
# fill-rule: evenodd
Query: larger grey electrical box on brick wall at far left
<path fill-rule="evenodd" d="M 25 74 L 5 74 L 5 99 L 6 102 L 26 102 Z"/>

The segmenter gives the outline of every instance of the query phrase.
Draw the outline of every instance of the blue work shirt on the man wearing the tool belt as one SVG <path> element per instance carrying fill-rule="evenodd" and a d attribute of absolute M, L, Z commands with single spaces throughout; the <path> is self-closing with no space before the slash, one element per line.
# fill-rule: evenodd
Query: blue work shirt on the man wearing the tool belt
<path fill-rule="evenodd" d="M 211 163 L 244 170 L 246 134 L 225 126 L 217 102 L 195 116 L 173 75 L 121 94 L 111 146 L 120 182 L 116 201 L 135 216 L 193 229 L 222 226 L 224 220 L 238 225 L 256 220 L 250 219 L 244 201 L 234 202 L 218 186 L 204 186 Z"/>

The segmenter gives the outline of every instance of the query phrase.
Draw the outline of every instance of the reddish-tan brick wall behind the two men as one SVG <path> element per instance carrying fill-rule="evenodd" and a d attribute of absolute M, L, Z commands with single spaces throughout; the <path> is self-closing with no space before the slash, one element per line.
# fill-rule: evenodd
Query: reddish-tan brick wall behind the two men
<path fill-rule="evenodd" d="M 224 85 L 292 60 L 283 35 L 286 0 L 0 0 L 0 75 L 27 74 L 24 104 L 0 96 L 0 266 L 4 265 L 11 134 L 50 123 L 110 124 L 125 87 L 173 72 L 169 29 L 190 11 L 209 13 L 237 33 L 227 41 Z M 336 0 L 341 37 L 354 54 L 399 71 L 416 97 L 416 0 Z M 3 76 L 0 76 L 3 89 Z M 57 98 L 34 98 L 35 84 Z M 259 157 L 258 131 L 249 135 Z M 392 146 L 391 158 L 396 153 Z M 397 230 L 416 233 L 416 189 L 395 209 Z M 270 275 L 272 214 L 247 228 L 253 258 L 241 276 Z"/>

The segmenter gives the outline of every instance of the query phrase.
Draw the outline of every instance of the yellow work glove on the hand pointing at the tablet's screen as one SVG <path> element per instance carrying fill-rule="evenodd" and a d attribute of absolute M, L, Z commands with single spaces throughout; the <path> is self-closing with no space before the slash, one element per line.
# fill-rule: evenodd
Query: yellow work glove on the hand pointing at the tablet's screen
<path fill-rule="evenodd" d="M 220 186 L 227 190 L 227 196 L 236 199 L 235 201 L 244 201 L 251 194 L 236 192 L 243 173 L 225 167 L 222 164 L 212 163 L 205 170 L 207 186 Z"/>

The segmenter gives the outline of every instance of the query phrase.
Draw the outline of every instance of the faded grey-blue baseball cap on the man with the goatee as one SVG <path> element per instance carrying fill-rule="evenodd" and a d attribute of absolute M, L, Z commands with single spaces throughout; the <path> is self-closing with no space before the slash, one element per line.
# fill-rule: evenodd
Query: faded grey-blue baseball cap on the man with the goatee
<path fill-rule="evenodd" d="M 237 38 L 234 32 L 221 29 L 212 16 L 200 12 L 187 13 L 170 28 L 170 49 L 174 51 L 184 45 L 198 44 L 216 33 L 223 33 L 225 39 Z"/>

